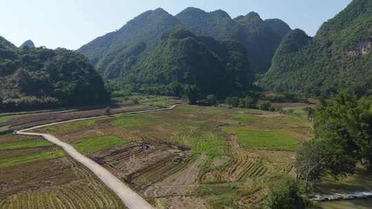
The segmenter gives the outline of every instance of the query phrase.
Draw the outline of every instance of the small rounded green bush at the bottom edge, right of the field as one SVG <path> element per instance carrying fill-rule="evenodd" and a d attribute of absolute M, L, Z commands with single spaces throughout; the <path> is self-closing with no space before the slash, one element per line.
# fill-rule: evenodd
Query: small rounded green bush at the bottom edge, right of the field
<path fill-rule="evenodd" d="M 302 197 L 298 195 L 298 185 L 290 178 L 280 180 L 269 188 L 264 203 L 265 209 L 301 209 L 305 208 Z"/>

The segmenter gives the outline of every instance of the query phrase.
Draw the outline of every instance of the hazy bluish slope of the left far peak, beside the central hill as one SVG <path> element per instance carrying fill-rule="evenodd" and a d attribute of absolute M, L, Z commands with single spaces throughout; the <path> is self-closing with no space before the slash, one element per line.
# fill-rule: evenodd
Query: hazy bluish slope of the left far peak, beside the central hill
<path fill-rule="evenodd" d="M 105 78 L 117 78 L 122 70 L 132 67 L 136 57 L 147 47 L 158 43 L 161 34 L 178 24 L 177 19 L 161 8 L 149 10 L 120 30 L 83 45 L 77 52 L 87 56 Z"/>

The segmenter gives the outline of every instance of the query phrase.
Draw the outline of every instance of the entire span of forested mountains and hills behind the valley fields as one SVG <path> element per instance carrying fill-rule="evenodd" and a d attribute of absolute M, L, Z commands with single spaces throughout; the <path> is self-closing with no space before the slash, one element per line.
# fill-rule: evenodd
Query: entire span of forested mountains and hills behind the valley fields
<path fill-rule="evenodd" d="M 172 16 L 159 8 L 83 45 L 77 52 L 87 58 L 32 41 L 16 47 L 0 36 L 0 109 L 101 102 L 109 98 L 103 80 L 198 98 L 242 96 L 257 85 L 311 96 L 347 88 L 372 94 L 371 51 L 370 0 L 353 0 L 315 37 L 256 12 L 231 19 L 223 10 Z"/>

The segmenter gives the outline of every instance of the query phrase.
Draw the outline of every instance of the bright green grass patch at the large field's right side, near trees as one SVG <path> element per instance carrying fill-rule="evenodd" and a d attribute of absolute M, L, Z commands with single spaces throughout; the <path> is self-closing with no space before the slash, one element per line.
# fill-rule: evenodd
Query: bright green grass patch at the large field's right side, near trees
<path fill-rule="evenodd" d="M 227 133 L 235 133 L 245 148 L 266 148 L 269 150 L 296 151 L 298 140 L 279 131 L 253 130 L 245 127 L 227 127 Z"/>

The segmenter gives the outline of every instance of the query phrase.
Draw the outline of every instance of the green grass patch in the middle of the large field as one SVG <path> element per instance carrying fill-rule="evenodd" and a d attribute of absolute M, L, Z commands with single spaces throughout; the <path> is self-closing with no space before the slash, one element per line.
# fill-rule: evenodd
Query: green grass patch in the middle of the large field
<path fill-rule="evenodd" d="M 202 132 L 195 129 L 182 131 L 172 137 L 172 143 L 191 148 L 194 155 L 220 156 L 228 154 L 228 144 L 223 138 L 214 133 Z"/>

